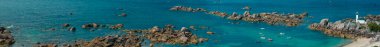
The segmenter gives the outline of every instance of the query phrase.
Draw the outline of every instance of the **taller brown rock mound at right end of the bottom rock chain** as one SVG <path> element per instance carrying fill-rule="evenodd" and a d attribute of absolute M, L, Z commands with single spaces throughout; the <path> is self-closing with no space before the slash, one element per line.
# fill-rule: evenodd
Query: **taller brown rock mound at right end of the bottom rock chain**
<path fill-rule="evenodd" d="M 191 30 L 186 27 L 182 27 L 181 30 L 174 30 L 173 28 L 174 26 L 172 25 L 166 25 L 161 29 L 153 27 L 152 29 L 140 32 L 146 34 L 144 37 L 153 43 L 189 45 L 202 43 L 208 40 L 206 38 L 199 38 L 199 36 L 191 33 Z"/>

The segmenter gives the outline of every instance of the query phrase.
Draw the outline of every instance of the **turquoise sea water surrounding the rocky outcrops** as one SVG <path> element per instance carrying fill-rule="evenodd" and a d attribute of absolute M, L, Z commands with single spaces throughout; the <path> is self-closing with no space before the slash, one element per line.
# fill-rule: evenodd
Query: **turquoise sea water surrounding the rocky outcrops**
<path fill-rule="evenodd" d="M 350 40 L 327 36 L 309 30 L 307 26 L 322 18 L 330 18 L 331 21 L 354 18 L 355 12 L 361 16 L 380 14 L 378 2 L 379 0 L 0 0 L 0 26 L 13 26 L 12 35 L 16 40 L 13 47 L 28 47 L 37 42 L 63 44 L 124 33 L 108 29 L 93 32 L 79 29 L 87 23 L 122 23 L 127 29 L 147 29 L 166 24 L 176 27 L 207 26 L 216 34 L 210 36 L 204 31 L 194 31 L 211 39 L 190 45 L 199 47 L 338 47 Z M 177 5 L 240 14 L 245 11 L 241 8 L 250 6 L 252 13 L 308 12 L 311 17 L 305 18 L 299 26 L 287 27 L 231 21 L 205 13 L 168 10 Z M 128 16 L 117 16 L 120 13 L 127 13 Z M 70 23 L 78 30 L 69 32 L 61 27 L 63 23 Z M 50 28 L 57 30 L 44 31 Z M 273 41 L 260 37 L 271 38 Z"/>

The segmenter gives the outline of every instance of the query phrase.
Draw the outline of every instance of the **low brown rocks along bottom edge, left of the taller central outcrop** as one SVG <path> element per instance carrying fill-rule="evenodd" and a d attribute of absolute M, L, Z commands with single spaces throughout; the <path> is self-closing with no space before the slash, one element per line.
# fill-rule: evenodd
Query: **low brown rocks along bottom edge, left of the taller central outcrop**
<path fill-rule="evenodd" d="M 72 44 L 61 45 L 63 47 L 141 47 L 144 40 L 137 35 L 96 37 L 91 41 L 78 40 Z M 37 44 L 35 47 L 57 47 L 57 44 Z"/>

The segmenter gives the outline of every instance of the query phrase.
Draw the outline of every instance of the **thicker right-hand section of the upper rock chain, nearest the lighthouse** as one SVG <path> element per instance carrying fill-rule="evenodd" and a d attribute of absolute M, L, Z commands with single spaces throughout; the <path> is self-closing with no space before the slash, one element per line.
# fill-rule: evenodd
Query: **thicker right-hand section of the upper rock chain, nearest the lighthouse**
<path fill-rule="evenodd" d="M 307 13 L 277 14 L 276 12 L 273 12 L 273 13 L 260 13 L 260 14 L 253 14 L 253 15 L 245 14 L 245 16 L 242 17 L 242 20 L 248 21 L 248 22 L 262 21 L 262 22 L 266 22 L 268 24 L 281 24 L 281 23 L 283 23 L 287 26 L 296 26 L 303 21 L 303 18 L 305 16 L 307 16 Z"/>

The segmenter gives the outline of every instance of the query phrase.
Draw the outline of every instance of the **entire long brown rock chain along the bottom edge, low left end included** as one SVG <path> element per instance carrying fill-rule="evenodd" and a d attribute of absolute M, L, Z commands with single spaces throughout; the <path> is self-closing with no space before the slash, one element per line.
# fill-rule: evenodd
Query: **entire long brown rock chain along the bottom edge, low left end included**
<path fill-rule="evenodd" d="M 207 38 L 200 38 L 193 34 L 191 30 L 182 27 L 175 30 L 174 26 L 166 25 L 164 28 L 154 26 L 151 29 L 144 30 L 123 30 L 127 34 L 97 37 L 91 41 L 79 40 L 75 43 L 64 44 L 64 47 L 141 47 L 148 43 L 153 47 L 155 44 L 180 44 L 190 45 L 199 44 L 207 41 Z M 205 32 L 206 33 L 206 32 Z M 57 44 L 37 44 L 37 47 L 57 47 Z"/>

